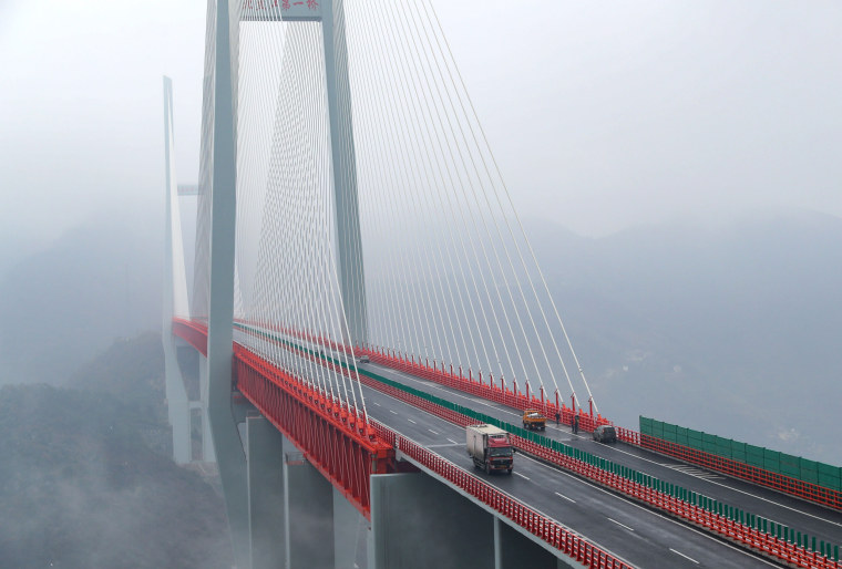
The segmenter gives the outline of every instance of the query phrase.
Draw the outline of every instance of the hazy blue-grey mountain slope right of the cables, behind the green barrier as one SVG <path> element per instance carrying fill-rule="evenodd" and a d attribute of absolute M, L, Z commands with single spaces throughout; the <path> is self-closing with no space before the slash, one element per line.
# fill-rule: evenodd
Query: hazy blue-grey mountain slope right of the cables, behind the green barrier
<path fill-rule="evenodd" d="M 533 228 L 535 224 L 531 225 Z M 533 229 L 600 410 L 842 464 L 842 219 Z M 552 244 L 552 245 L 550 245 Z"/>

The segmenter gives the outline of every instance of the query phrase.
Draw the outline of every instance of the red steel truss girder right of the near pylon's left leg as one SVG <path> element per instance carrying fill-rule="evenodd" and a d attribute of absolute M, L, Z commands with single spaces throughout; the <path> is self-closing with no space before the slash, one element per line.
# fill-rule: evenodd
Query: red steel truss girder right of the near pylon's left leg
<path fill-rule="evenodd" d="M 360 435 L 343 407 L 242 345 L 235 345 L 237 386 L 301 449 L 307 459 L 367 518 L 371 474 L 397 472 L 394 449 Z"/>

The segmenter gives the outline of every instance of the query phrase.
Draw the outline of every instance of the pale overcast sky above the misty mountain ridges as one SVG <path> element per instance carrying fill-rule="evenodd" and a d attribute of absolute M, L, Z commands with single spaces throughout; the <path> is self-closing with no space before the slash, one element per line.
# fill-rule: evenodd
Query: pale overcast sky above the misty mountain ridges
<path fill-rule="evenodd" d="M 842 216 L 842 3 L 433 0 L 523 215 L 583 235 Z M 198 170 L 204 0 L 0 0 L 0 252 Z M 2 260 L 2 259 L 0 259 Z"/>

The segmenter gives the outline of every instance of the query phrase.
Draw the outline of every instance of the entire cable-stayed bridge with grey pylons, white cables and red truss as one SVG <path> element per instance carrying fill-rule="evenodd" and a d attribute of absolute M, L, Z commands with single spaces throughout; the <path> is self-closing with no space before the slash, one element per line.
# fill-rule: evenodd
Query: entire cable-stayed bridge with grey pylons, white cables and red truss
<path fill-rule="evenodd" d="M 195 189 L 164 91 L 173 446 L 217 463 L 238 567 L 842 567 L 839 492 L 589 439 L 610 422 L 429 1 L 209 0 Z M 473 468 L 476 423 L 513 473 Z"/>

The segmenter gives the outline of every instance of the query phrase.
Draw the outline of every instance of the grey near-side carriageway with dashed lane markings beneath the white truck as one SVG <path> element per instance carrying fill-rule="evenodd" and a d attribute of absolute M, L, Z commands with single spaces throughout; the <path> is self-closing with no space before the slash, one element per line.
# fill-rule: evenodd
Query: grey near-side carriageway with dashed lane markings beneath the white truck
<path fill-rule="evenodd" d="M 381 371 L 382 369 L 378 370 Z M 465 453 L 462 427 L 370 387 L 363 387 L 363 393 L 369 414 L 373 418 L 472 472 L 474 476 L 548 518 L 564 524 L 633 566 L 774 566 L 523 454 L 516 455 L 512 476 L 487 475 L 473 468 Z"/>

